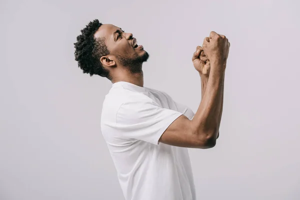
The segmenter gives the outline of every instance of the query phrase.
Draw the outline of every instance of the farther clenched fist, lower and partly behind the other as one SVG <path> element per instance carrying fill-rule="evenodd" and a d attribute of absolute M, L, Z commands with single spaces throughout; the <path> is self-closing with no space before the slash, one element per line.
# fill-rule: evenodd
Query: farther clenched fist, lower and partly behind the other
<path fill-rule="evenodd" d="M 209 70 L 210 70 L 210 63 L 209 59 L 207 59 L 203 49 L 201 46 L 196 47 L 196 51 L 192 55 L 192 63 L 195 67 L 195 69 L 200 73 L 205 76 L 209 75 Z"/>

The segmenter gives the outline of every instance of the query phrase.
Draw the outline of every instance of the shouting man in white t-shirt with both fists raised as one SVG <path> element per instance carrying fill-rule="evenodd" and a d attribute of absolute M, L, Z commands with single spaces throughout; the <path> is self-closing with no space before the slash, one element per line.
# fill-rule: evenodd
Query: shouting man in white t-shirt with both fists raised
<path fill-rule="evenodd" d="M 222 115 L 229 42 L 210 32 L 192 56 L 202 99 L 194 114 L 167 93 L 143 86 L 149 54 L 131 33 L 89 22 L 77 36 L 75 60 L 84 73 L 107 77 L 101 131 L 126 200 L 196 199 L 186 147 L 215 145 Z"/>

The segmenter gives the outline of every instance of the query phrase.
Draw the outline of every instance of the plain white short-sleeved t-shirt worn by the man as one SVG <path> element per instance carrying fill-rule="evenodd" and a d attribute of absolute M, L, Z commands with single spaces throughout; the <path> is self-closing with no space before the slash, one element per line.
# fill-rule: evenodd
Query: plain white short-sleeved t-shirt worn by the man
<path fill-rule="evenodd" d="M 105 96 L 101 131 L 126 200 L 195 200 L 187 148 L 158 142 L 187 106 L 165 92 L 119 81 Z"/>

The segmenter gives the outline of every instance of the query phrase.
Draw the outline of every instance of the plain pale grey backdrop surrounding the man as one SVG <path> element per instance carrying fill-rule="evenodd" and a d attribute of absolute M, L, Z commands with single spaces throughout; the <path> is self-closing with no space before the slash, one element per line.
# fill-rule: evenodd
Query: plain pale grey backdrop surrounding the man
<path fill-rule="evenodd" d="M 211 30 L 230 41 L 220 137 L 189 149 L 197 199 L 300 199 L 297 0 L 1 0 L 0 199 L 124 199 L 100 130 L 111 82 L 74 60 L 97 18 L 150 54 L 144 86 L 196 111 L 191 62 Z"/>

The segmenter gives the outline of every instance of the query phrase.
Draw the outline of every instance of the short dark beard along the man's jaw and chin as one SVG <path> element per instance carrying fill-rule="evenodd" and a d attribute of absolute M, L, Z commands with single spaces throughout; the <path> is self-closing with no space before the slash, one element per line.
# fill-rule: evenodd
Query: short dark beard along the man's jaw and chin
<path fill-rule="evenodd" d="M 131 73 L 141 73 L 142 63 L 146 62 L 149 58 L 149 54 L 145 51 L 142 55 L 134 54 L 133 57 L 125 57 L 121 55 L 116 55 L 120 64 L 125 66 Z"/>

